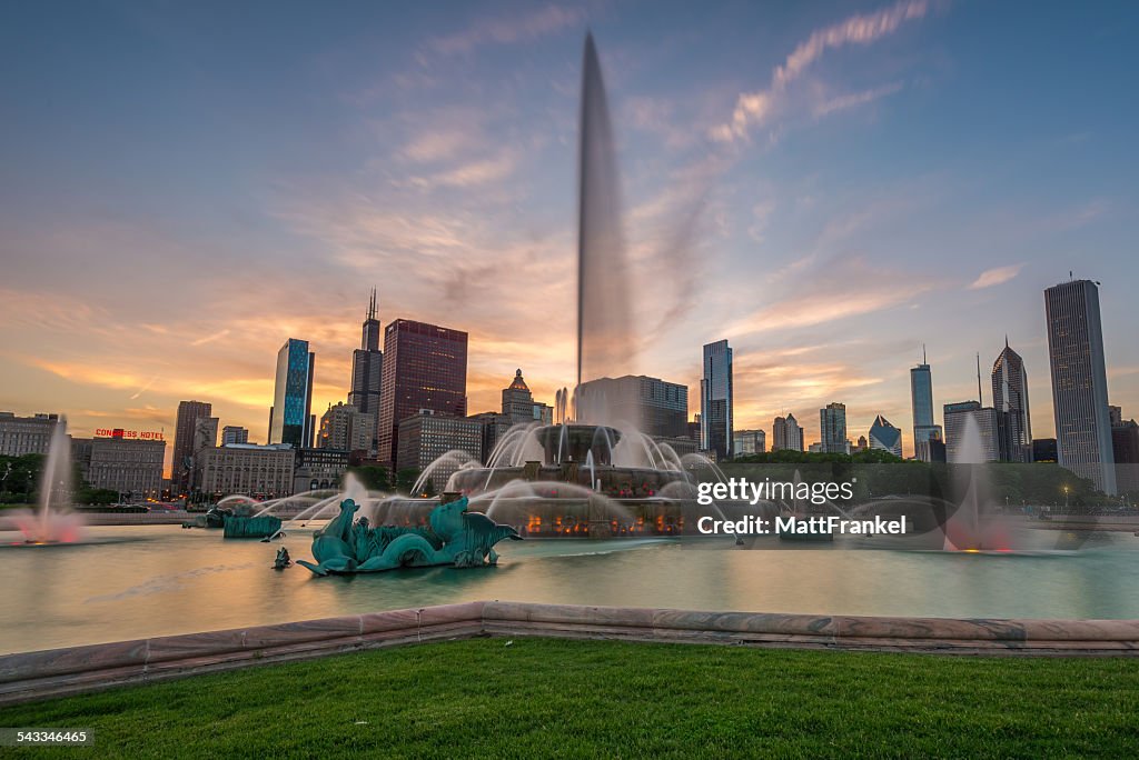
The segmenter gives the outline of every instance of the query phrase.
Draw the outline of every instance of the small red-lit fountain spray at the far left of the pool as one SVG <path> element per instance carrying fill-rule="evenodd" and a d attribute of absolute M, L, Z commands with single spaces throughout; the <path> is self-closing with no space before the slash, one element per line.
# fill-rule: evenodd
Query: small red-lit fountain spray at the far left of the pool
<path fill-rule="evenodd" d="M 11 522 L 24 536 L 25 545 L 74 544 L 83 540 L 83 518 L 71 511 L 71 438 L 66 429 L 66 420 L 60 419 L 51 432 L 40 479 L 39 509 L 14 510 L 10 513 Z"/>

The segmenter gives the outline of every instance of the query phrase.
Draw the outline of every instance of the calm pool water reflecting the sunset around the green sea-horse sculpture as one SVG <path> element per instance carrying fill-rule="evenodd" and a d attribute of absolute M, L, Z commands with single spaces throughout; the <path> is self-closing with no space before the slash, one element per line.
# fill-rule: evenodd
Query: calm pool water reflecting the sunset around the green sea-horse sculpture
<path fill-rule="evenodd" d="M 110 545 L 0 551 L 15 652 L 472 600 L 1000 618 L 1139 618 L 1139 538 L 1072 535 L 1077 553 L 811 547 L 714 551 L 655 540 L 528 540 L 495 568 L 316 578 L 270 569 L 279 543 L 173 526 L 92 528 Z M 1046 537 L 1055 546 L 1054 535 Z M 306 556 L 311 532 L 284 545 Z"/>

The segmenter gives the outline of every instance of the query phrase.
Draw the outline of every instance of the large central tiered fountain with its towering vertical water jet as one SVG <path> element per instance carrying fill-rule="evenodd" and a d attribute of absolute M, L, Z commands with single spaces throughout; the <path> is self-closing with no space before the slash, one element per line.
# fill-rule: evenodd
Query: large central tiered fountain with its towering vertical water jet
<path fill-rule="evenodd" d="M 636 535 L 682 528 L 695 477 L 639 420 L 621 420 L 588 381 L 629 374 L 636 355 L 624 251 L 620 181 L 605 83 L 585 36 L 577 165 L 577 382 L 557 394 L 557 424 L 515 426 L 485 468 L 456 471 L 446 489 L 473 505 L 506 509 L 523 530 L 542 535 Z M 514 486 L 516 482 L 525 486 Z M 525 495 L 519 491 L 525 491 Z M 654 528 L 655 527 L 655 528 Z M 658 529 L 658 530 L 656 530 Z"/>

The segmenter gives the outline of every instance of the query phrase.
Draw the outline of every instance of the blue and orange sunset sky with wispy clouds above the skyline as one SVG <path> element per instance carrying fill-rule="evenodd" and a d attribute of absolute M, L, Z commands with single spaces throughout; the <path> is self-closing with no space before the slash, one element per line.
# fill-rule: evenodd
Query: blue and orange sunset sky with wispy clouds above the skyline
<path fill-rule="evenodd" d="M 399 7 L 396 7 L 399 6 Z M 735 348 L 736 428 L 845 402 L 912 449 L 908 369 L 976 396 L 1005 336 L 1054 435 L 1042 290 L 1103 282 L 1139 415 L 1139 6 L 9 2 L 0 410 L 74 435 L 180 399 L 264 441 L 276 354 L 343 400 L 380 319 L 470 333 L 470 412 L 575 372 L 581 49 L 618 141 L 637 370 Z M 167 451 L 169 451 L 167 446 Z"/>

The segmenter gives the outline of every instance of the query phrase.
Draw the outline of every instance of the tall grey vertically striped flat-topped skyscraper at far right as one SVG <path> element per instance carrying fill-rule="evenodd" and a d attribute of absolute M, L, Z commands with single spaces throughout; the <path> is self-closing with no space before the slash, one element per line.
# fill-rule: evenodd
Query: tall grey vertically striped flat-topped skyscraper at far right
<path fill-rule="evenodd" d="M 1071 280 L 1044 290 L 1056 448 L 1062 466 L 1115 494 L 1099 288 Z"/>

